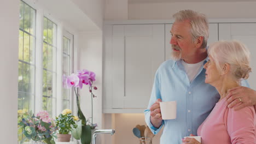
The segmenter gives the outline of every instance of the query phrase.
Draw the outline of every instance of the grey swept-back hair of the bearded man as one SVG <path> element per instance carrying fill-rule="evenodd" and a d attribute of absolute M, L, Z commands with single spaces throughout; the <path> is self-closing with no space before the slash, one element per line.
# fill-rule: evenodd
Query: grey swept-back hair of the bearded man
<path fill-rule="evenodd" d="M 173 15 L 175 21 L 190 21 L 190 31 L 192 35 L 192 40 L 195 42 L 197 37 L 203 37 L 202 48 L 207 46 L 207 40 L 209 38 L 209 26 L 206 16 L 201 13 L 197 13 L 193 10 L 181 10 Z"/>

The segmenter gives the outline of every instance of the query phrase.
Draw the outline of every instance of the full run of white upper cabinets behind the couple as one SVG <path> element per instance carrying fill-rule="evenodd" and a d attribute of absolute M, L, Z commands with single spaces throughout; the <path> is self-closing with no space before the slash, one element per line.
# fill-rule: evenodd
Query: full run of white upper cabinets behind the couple
<path fill-rule="evenodd" d="M 227 21 L 229 19 L 210 23 L 207 45 L 237 39 L 245 43 L 252 54 L 256 53 L 256 23 L 252 23 L 256 20 L 249 20 L 251 23 Z M 128 23 L 133 25 L 104 26 L 103 113 L 143 113 L 149 103 L 155 71 L 170 59 L 172 24 Z M 256 57 L 251 61 L 256 61 Z M 256 70 L 256 63 L 251 66 Z M 256 75 L 251 74 L 248 80 L 253 89 L 256 89 L 255 79 Z"/>

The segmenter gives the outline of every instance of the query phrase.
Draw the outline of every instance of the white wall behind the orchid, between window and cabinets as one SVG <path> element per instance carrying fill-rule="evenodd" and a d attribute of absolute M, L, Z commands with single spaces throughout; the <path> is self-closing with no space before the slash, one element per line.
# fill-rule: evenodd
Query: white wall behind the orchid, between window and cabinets
<path fill-rule="evenodd" d="M 78 69 L 94 71 L 96 81 L 93 83 L 98 89 L 94 91 L 96 98 L 93 99 L 93 121 L 102 128 L 102 31 L 79 33 L 79 66 Z M 80 92 L 81 109 L 86 118 L 91 117 L 91 95 L 88 86 L 84 86 Z"/>

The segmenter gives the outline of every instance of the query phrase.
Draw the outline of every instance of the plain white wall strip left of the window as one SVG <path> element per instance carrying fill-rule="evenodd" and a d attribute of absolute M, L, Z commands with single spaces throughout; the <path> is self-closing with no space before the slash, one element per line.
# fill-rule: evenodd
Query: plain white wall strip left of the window
<path fill-rule="evenodd" d="M 1 143 L 18 141 L 18 40 L 20 1 L 2 1 L 0 5 L 0 110 Z"/>

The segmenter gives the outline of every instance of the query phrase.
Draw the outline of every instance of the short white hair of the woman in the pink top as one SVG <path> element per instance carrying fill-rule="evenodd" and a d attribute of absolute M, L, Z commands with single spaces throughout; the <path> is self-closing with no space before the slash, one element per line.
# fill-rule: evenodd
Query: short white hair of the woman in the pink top
<path fill-rule="evenodd" d="M 228 63 L 231 73 L 236 81 L 247 79 L 252 71 L 249 65 L 250 52 L 247 47 L 237 40 L 218 41 L 208 48 L 216 63 L 217 69 L 222 70 L 222 65 Z"/>

